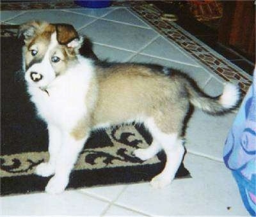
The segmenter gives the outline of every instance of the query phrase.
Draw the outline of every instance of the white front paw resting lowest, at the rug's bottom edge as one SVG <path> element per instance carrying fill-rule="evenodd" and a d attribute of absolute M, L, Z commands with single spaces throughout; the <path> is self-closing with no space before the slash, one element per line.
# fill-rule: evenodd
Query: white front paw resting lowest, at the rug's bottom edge
<path fill-rule="evenodd" d="M 45 191 L 51 195 L 62 193 L 68 185 L 68 178 L 65 177 L 52 177 L 48 182 Z"/>

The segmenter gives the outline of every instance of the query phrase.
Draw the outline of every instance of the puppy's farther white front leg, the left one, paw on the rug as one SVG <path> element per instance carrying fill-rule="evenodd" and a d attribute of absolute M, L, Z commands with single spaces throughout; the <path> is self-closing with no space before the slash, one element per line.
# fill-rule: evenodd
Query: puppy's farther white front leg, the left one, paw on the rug
<path fill-rule="evenodd" d="M 56 160 L 61 147 L 61 131 L 60 129 L 53 125 L 48 124 L 48 134 L 49 134 L 49 161 L 47 163 L 40 163 L 36 167 L 35 174 L 38 176 L 48 177 L 54 174 L 56 167 Z"/>

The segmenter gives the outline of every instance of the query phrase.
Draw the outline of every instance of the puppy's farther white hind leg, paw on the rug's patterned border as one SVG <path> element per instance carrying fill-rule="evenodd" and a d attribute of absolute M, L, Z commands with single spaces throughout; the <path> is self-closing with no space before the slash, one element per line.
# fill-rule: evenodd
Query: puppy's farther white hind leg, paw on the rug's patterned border
<path fill-rule="evenodd" d="M 148 160 L 153 158 L 159 151 L 161 151 L 162 146 L 159 144 L 157 140 L 153 140 L 149 147 L 146 149 L 136 149 L 134 151 L 134 155 L 140 160 Z"/>

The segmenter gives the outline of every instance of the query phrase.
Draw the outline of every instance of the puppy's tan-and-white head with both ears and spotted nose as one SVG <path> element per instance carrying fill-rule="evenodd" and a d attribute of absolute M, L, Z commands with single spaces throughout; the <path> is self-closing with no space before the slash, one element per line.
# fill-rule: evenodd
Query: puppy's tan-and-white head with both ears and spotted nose
<path fill-rule="evenodd" d="M 32 21 L 20 26 L 19 36 L 24 38 L 25 79 L 40 88 L 47 87 L 70 64 L 76 63 L 83 43 L 69 24 Z"/>

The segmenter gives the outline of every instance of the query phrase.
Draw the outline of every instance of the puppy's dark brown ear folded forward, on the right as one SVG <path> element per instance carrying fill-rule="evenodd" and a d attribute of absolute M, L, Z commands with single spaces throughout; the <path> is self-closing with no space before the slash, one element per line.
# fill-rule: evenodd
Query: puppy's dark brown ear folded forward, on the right
<path fill-rule="evenodd" d="M 79 38 L 76 29 L 70 24 L 55 24 L 57 41 L 61 45 L 67 45 L 73 40 Z"/>

